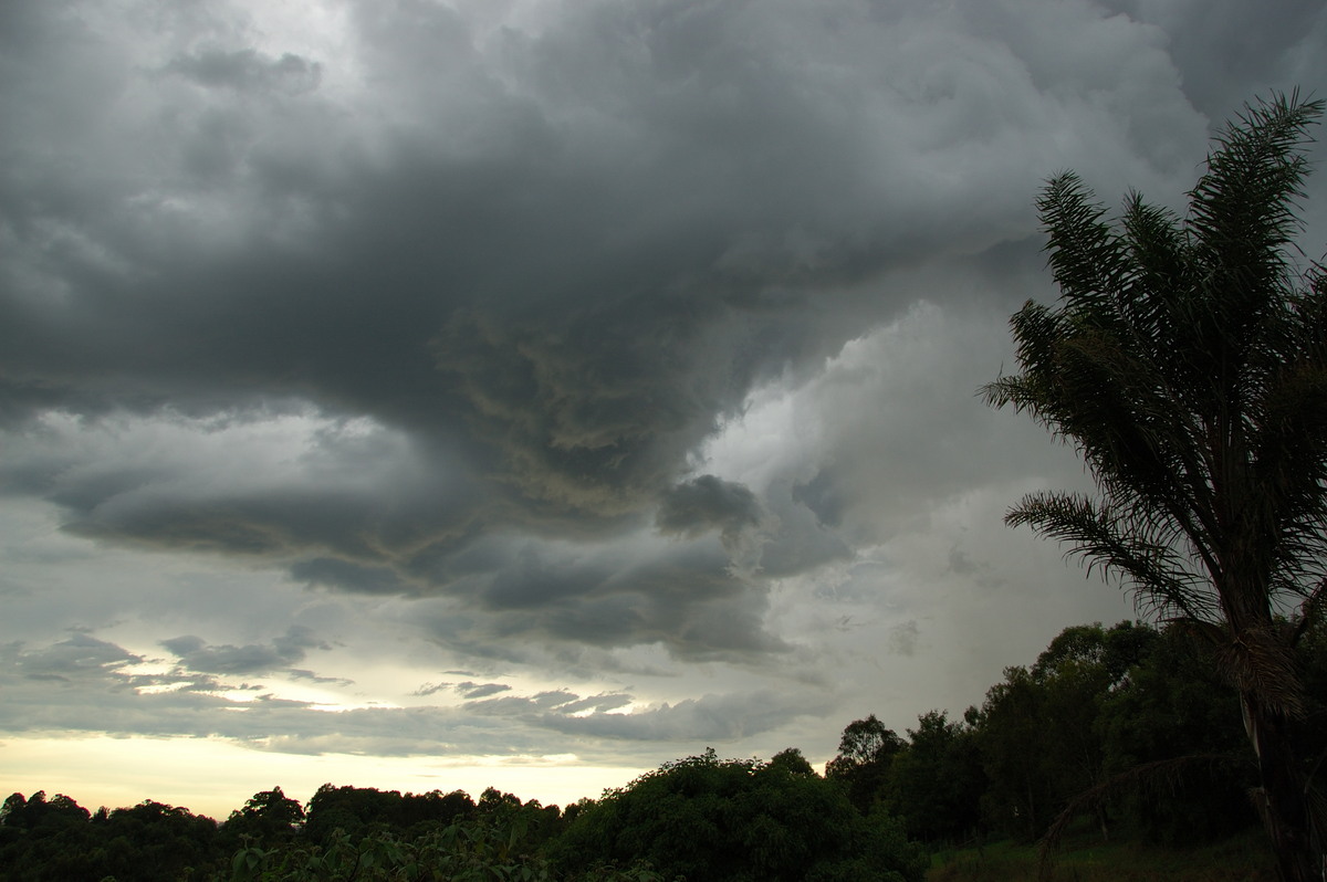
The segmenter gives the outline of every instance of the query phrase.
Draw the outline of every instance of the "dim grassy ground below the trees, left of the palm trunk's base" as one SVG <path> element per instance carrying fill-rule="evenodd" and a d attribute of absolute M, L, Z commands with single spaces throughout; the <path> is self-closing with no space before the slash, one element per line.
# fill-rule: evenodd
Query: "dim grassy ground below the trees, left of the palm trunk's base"
<path fill-rule="evenodd" d="M 1066 841 L 1054 882 L 1274 882 L 1277 874 L 1261 830 L 1197 849 L 1164 849 L 1136 842 L 1103 845 L 1084 836 Z M 942 851 L 926 882 L 1035 882 L 1035 845 L 994 842 L 982 849 Z"/>

